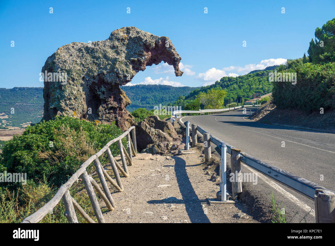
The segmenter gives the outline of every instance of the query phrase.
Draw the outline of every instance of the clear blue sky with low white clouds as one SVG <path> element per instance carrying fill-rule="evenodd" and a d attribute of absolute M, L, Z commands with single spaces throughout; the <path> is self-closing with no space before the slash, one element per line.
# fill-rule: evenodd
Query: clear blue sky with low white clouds
<path fill-rule="evenodd" d="M 59 47 L 104 40 L 124 26 L 168 36 L 182 57 L 184 71 L 176 77 L 171 66 L 160 63 L 137 73 L 132 84 L 202 86 L 222 76 L 246 74 L 302 57 L 315 28 L 334 17 L 334 0 L 1 0 L 0 87 L 43 87 L 39 73 Z"/>

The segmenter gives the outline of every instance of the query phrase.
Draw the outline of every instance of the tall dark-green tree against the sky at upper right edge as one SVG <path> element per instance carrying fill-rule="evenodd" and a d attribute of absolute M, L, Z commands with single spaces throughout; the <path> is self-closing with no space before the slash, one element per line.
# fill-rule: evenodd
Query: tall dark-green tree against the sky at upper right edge
<path fill-rule="evenodd" d="M 335 18 L 327 21 L 322 28 L 315 30 L 315 42 L 312 38 L 308 49 L 309 61 L 314 64 L 335 62 Z"/>

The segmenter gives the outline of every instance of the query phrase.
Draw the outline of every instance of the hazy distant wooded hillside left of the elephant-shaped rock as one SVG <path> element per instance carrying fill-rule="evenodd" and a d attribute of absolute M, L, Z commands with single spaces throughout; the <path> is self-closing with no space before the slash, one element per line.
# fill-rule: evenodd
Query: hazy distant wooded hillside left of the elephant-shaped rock
<path fill-rule="evenodd" d="M 43 104 L 43 87 L 0 88 L 0 127 L 40 122 Z"/>

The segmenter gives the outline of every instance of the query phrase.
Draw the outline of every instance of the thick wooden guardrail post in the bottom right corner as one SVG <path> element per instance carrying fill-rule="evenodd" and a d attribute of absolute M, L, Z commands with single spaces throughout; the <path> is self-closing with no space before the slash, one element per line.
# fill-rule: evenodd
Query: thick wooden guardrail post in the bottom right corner
<path fill-rule="evenodd" d="M 335 194 L 322 189 L 316 189 L 315 194 L 315 222 L 335 223 Z"/>

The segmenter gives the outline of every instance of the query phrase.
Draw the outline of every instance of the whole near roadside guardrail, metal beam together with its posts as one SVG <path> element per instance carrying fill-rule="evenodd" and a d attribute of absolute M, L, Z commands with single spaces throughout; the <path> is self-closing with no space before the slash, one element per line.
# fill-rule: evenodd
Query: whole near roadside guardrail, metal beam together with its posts
<path fill-rule="evenodd" d="M 241 106 L 239 108 L 241 108 Z M 181 120 L 180 123 L 181 125 L 184 125 Z M 189 129 L 190 122 L 186 121 L 185 123 L 187 128 Z M 211 158 L 210 143 L 216 145 L 215 151 L 220 155 L 221 158 L 219 168 L 220 191 L 217 193 L 217 200 L 221 200 L 220 202 L 230 202 L 229 195 L 226 192 L 226 153 L 228 153 L 231 156 L 230 164 L 232 173 L 235 174 L 236 172 L 238 172 L 237 175 L 242 174 L 241 163 L 244 163 L 247 166 L 253 168 L 254 170 L 277 181 L 278 183 L 314 200 L 316 223 L 335 223 L 335 191 L 327 189 L 312 181 L 296 176 L 290 172 L 286 172 L 278 167 L 272 166 L 255 157 L 252 157 L 247 153 L 242 152 L 241 150 L 223 142 L 221 139 L 213 136 L 200 126 L 192 124 L 191 130 L 192 146 L 195 146 L 197 144 L 197 132 L 202 134 L 204 137 L 205 161 L 208 161 Z M 187 131 L 187 133 L 189 133 L 189 131 Z M 188 134 L 186 138 L 189 139 Z M 235 179 L 235 181 L 231 181 L 231 187 L 232 198 L 235 200 L 238 194 L 242 192 L 242 180 Z"/>

